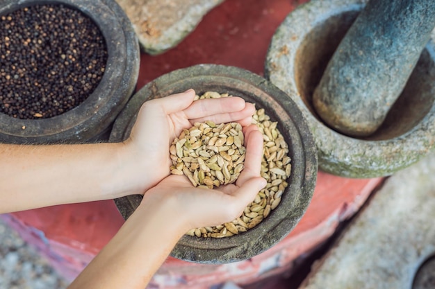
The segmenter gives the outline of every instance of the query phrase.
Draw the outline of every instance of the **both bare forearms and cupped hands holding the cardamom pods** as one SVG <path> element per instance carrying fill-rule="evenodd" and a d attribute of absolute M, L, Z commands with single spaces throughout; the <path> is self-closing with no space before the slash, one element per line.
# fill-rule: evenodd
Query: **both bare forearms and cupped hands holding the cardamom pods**
<path fill-rule="evenodd" d="M 193 102 L 194 97 L 190 89 L 148 101 L 124 143 L 0 144 L 0 213 L 144 195 L 69 288 L 145 288 L 186 231 L 237 218 L 265 186 L 263 136 L 249 125 L 254 105 L 236 97 Z M 245 169 L 236 184 L 198 189 L 186 177 L 170 175 L 170 143 L 183 129 L 206 120 L 238 121 L 244 127 Z"/>

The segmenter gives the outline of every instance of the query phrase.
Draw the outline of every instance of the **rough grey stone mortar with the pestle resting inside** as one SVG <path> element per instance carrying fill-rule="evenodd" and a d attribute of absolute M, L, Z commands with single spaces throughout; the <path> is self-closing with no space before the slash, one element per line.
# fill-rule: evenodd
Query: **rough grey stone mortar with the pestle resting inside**
<path fill-rule="evenodd" d="M 327 127 L 311 98 L 329 59 L 366 0 L 312 0 L 290 13 L 272 38 L 266 78 L 295 101 L 318 148 L 319 168 L 343 177 L 391 175 L 435 146 L 435 31 L 381 128 L 356 139 Z"/>

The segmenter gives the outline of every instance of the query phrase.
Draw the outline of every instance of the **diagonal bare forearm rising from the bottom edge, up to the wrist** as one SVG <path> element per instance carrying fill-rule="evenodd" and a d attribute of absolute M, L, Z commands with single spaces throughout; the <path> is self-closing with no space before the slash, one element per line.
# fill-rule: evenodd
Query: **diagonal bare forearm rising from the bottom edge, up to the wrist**
<path fill-rule="evenodd" d="M 174 206 L 142 202 L 69 289 L 143 289 L 187 231 Z"/>

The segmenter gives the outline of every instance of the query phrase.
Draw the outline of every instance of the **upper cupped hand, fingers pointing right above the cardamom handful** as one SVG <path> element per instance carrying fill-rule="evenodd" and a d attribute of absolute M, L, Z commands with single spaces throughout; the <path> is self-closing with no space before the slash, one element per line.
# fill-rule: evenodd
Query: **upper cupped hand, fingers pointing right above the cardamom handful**
<path fill-rule="evenodd" d="M 195 122 L 237 121 L 249 125 L 255 107 L 243 98 L 215 98 L 193 101 L 195 91 L 149 100 L 142 105 L 131 135 L 124 144 L 125 162 L 131 166 L 133 192 L 143 194 L 170 174 L 170 143 Z"/>

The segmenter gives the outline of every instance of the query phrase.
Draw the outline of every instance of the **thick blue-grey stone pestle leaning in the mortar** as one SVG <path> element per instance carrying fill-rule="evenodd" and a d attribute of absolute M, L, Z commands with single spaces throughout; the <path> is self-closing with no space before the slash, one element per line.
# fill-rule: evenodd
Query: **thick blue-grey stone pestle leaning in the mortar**
<path fill-rule="evenodd" d="M 367 137 L 400 96 L 435 26 L 435 1 L 370 0 L 313 94 L 331 128 Z"/>

